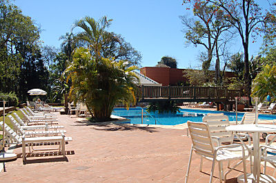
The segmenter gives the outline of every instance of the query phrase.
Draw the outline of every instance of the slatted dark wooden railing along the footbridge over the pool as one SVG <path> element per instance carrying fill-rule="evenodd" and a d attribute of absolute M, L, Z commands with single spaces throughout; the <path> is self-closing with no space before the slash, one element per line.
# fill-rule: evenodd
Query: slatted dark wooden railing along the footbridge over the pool
<path fill-rule="evenodd" d="M 141 86 L 141 98 L 224 98 L 235 100 L 242 96 L 240 90 L 227 87 Z"/>

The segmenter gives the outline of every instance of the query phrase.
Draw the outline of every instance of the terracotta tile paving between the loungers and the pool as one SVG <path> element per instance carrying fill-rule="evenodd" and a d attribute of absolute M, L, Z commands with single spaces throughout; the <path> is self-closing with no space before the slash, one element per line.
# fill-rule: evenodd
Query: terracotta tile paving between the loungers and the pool
<path fill-rule="evenodd" d="M 128 125 L 88 125 L 80 118 L 59 116 L 66 136 L 67 159 L 61 155 L 22 158 L 6 163 L 1 182 L 184 182 L 190 153 L 186 130 Z M 21 155 L 21 147 L 14 150 Z M 199 172 L 199 156 L 194 155 L 189 182 L 208 182 L 210 162 Z M 237 182 L 242 165 L 228 175 Z M 249 166 L 248 166 L 249 172 Z M 269 168 L 268 175 L 276 175 Z M 214 182 L 219 182 L 217 166 Z"/>

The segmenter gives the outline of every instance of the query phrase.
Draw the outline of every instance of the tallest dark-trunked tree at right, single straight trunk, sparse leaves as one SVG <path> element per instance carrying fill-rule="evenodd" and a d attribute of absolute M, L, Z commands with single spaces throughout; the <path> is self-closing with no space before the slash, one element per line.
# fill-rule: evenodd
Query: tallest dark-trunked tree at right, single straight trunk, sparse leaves
<path fill-rule="evenodd" d="M 268 12 L 263 13 L 262 8 L 254 0 L 206 0 L 206 3 L 211 3 L 214 6 L 219 6 L 226 11 L 226 20 L 237 29 L 237 32 L 242 39 L 244 47 L 244 79 L 246 85 L 246 94 L 250 96 L 251 80 L 249 74 L 249 38 L 259 34 L 258 30 L 265 31 L 266 19 Z M 275 24 L 272 24 L 274 27 Z M 253 34 L 256 33 L 256 34 Z M 254 42 L 254 41 L 253 41 Z"/>

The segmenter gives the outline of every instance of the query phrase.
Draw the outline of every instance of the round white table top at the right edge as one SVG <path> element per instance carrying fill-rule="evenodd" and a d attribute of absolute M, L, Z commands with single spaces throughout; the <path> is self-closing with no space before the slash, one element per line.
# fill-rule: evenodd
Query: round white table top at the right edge
<path fill-rule="evenodd" d="M 276 132 L 276 125 L 250 124 L 250 125 L 230 125 L 226 127 L 228 131 L 240 132 Z"/>

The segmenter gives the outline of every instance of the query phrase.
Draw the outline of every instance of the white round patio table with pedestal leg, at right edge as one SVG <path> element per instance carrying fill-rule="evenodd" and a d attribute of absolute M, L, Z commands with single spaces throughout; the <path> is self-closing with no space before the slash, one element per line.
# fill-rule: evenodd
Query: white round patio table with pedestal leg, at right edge
<path fill-rule="evenodd" d="M 250 125 L 230 125 L 226 127 L 226 130 L 233 131 L 235 136 L 244 144 L 244 141 L 237 135 L 237 132 L 247 132 L 253 134 L 253 173 L 248 174 L 248 182 L 276 182 L 276 178 L 270 175 L 260 174 L 261 162 L 259 157 L 259 133 L 270 133 L 276 132 L 276 125 L 263 125 L 263 124 L 250 124 Z M 259 181 L 257 181 L 259 179 Z M 244 182 L 244 176 L 240 175 L 238 177 L 238 182 Z"/>

